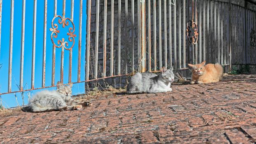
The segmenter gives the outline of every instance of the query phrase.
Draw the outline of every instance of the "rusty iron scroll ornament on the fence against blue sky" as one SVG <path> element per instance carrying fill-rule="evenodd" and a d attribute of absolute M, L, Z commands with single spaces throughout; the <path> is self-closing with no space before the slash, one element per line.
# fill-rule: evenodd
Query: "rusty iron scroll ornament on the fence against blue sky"
<path fill-rule="evenodd" d="M 70 27 L 68 29 L 68 33 L 67 35 L 69 35 L 68 40 L 70 42 L 73 42 L 72 46 L 70 46 L 70 48 L 67 48 L 67 46 L 69 45 L 67 41 L 65 41 L 64 38 L 62 38 L 61 40 L 58 39 L 57 44 L 54 43 L 54 39 L 53 38 L 57 38 L 58 37 L 58 33 L 60 33 L 60 30 L 58 30 L 58 24 L 54 23 L 54 20 L 56 18 L 58 19 L 58 23 L 62 24 L 62 27 L 65 28 L 65 26 L 69 25 L 69 21 L 72 23 L 72 27 Z M 50 28 L 51 33 L 51 42 L 52 44 L 54 44 L 55 47 L 57 48 L 64 48 L 66 50 L 72 50 L 72 48 L 74 47 L 74 37 L 77 37 L 77 35 L 74 34 L 74 23 L 70 18 L 65 18 L 62 16 L 54 16 L 54 18 L 51 21 L 51 28 Z"/>

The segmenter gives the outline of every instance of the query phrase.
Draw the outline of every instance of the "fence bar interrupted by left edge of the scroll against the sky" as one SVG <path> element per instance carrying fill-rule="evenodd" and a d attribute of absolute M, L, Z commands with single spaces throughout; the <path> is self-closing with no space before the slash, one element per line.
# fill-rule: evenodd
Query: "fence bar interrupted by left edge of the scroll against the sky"
<path fill-rule="evenodd" d="M 54 17 L 57 16 L 57 0 L 54 0 Z M 55 59 L 56 59 L 56 47 L 52 46 L 52 64 L 51 64 L 51 85 L 54 86 L 55 80 Z"/>

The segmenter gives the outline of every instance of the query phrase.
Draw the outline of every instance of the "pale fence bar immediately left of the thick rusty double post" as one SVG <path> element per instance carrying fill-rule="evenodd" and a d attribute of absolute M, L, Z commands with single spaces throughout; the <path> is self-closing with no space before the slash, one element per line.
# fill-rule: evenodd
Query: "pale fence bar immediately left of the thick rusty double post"
<path fill-rule="evenodd" d="M 132 73 L 134 73 L 134 67 L 134 0 L 132 0 Z"/>

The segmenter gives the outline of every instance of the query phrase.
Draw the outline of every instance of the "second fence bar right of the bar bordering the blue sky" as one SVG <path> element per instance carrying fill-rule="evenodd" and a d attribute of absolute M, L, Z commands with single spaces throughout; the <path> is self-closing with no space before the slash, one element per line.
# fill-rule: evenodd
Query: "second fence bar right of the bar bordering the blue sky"
<path fill-rule="evenodd" d="M 104 0 L 104 26 L 103 26 L 103 76 L 106 77 L 106 56 L 107 56 L 107 0 Z"/>

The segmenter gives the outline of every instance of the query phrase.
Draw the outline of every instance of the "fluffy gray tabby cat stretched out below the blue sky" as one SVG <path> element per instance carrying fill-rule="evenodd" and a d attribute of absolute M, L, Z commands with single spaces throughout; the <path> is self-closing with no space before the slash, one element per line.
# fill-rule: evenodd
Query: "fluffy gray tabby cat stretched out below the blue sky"
<path fill-rule="evenodd" d="M 72 85 L 64 86 L 58 81 L 56 91 L 41 91 L 29 100 L 28 105 L 33 112 L 75 110 L 90 105 L 89 101 L 79 102 L 71 98 Z"/>

